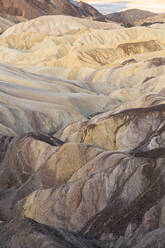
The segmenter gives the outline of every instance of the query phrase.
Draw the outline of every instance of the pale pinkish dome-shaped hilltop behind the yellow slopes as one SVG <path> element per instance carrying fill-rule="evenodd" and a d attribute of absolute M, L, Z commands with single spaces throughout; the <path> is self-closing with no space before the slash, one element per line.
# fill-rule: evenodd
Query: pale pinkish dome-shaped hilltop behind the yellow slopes
<path fill-rule="evenodd" d="M 41 16 L 31 21 L 15 25 L 14 27 L 8 29 L 3 34 L 3 37 L 22 32 L 39 32 L 57 36 L 83 28 L 114 29 L 121 28 L 121 26 L 116 23 L 97 22 L 90 19 L 82 19 L 64 15 Z"/>

